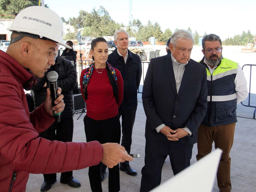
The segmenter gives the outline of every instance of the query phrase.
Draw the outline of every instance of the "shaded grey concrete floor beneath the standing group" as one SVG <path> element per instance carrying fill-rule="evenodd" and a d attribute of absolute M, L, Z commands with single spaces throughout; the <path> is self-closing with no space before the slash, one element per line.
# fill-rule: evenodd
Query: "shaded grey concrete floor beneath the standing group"
<path fill-rule="evenodd" d="M 142 90 L 142 89 L 141 89 Z M 146 116 L 142 106 L 141 94 L 138 94 L 138 108 L 136 113 L 135 124 L 132 135 L 132 150 L 131 153 L 140 154 L 139 158 L 134 158 L 130 163 L 138 174 L 130 176 L 125 172 L 120 171 L 120 188 L 121 192 L 138 192 L 140 190 L 141 168 L 144 166 L 145 156 L 145 122 Z M 248 101 L 247 101 L 248 102 Z M 244 102 L 245 104 L 246 102 Z M 256 94 L 251 95 L 251 105 L 256 106 Z M 256 121 L 252 118 L 254 108 L 244 107 L 241 104 L 237 106 L 238 122 L 236 123 L 236 132 L 234 144 L 231 149 L 231 183 L 232 192 L 255 192 L 256 191 Z M 80 114 L 74 116 L 74 136 L 73 141 L 86 141 L 84 133 L 83 118 L 85 113 L 78 118 Z M 243 118 L 245 117 L 245 118 Z M 214 146 L 214 144 L 213 144 Z M 213 147 L 214 150 L 214 147 Z M 197 146 L 194 145 L 191 164 L 196 162 Z M 57 182 L 52 186 L 50 191 L 54 192 L 89 192 L 91 191 L 88 178 L 88 168 L 83 170 L 73 171 L 73 176 L 81 182 L 80 188 L 70 188 L 68 185 L 60 183 L 60 173 L 57 173 Z M 102 182 L 103 192 L 108 191 L 108 171 L 106 179 Z M 162 170 L 162 182 L 173 176 L 169 158 L 166 158 Z M 41 174 L 30 174 L 26 192 L 40 191 L 41 184 L 44 178 Z M 213 192 L 218 192 L 217 182 L 215 181 Z"/>

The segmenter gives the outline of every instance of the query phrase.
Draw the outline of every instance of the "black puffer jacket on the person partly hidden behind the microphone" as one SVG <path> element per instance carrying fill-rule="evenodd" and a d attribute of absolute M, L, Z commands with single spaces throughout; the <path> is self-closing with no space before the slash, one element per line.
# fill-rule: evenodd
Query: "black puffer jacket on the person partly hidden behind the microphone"
<path fill-rule="evenodd" d="M 46 99 L 46 87 L 43 87 L 45 82 L 48 87 L 48 80 L 46 78 L 49 71 L 56 71 L 58 77 L 58 87 L 61 88 L 61 94 L 64 95 L 65 108 L 61 113 L 60 118 L 72 118 L 74 115 L 73 106 L 73 92 L 72 90 L 76 84 L 76 69 L 69 60 L 62 59 L 57 56 L 55 65 L 52 65 L 47 72 L 45 72 L 43 78 L 38 78 L 36 86 L 32 87 L 32 95 L 34 98 L 35 108 L 40 106 Z"/>

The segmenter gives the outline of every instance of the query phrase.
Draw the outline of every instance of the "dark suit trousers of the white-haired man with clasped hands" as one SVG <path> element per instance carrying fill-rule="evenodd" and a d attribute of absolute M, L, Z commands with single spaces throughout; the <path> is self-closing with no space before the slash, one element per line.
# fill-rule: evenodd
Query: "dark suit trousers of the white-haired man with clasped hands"
<path fill-rule="evenodd" d="M 162 133 L 158 133 L 162 134 Z M 161 183 L 164 160 L 170 157 L 173 174 L 181 172 L 190 165 L 193 145 L 177 141 L 157 141 L 146 138 L 145 166 L 141 170 L 140 192 L 148 192 Z"/>

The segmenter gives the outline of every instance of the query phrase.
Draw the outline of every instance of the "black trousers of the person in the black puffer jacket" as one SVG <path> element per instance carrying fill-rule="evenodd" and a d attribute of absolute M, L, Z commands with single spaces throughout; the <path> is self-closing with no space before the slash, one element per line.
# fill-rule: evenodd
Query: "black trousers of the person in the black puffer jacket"
<path fill-rule="evenodd" d="M 39 136 L 48 140 L 58 140 L 63 142 L 70 142 L 73 138 L 73 118 L 61 119 L 59 123 L 54 122 L 44 132 L 39 133 Z M 72 163 L 72 162 L 70 162 Z M 60 182 L 67 183 L 73 179 L 73 172 L 62 172 L 60 175 Z M 56 180 L 56 173 L 44 174 L 44 182 L 52 183 Z"/>

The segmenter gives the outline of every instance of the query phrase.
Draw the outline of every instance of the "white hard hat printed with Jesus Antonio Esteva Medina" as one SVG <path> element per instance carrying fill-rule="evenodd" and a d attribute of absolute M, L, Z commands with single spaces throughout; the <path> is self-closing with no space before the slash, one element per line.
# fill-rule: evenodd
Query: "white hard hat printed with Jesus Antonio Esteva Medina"
<path fill-rule="evenodd" d="M 60 16 L 46 7 L 31 6 L 23 9 L 7 29 L 20 35 L 14 37 L 11 43 L 29 36 L 54 41 L 72 49 L 63 41 L 63 23 Z"/>

